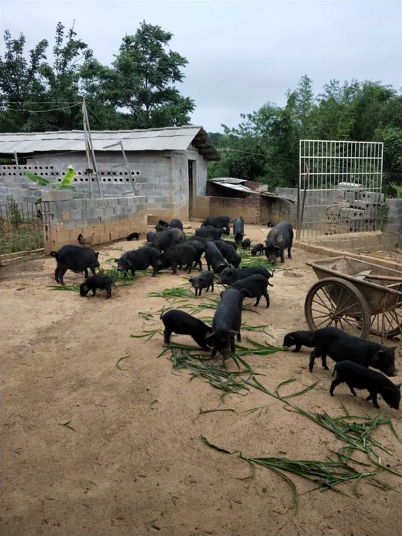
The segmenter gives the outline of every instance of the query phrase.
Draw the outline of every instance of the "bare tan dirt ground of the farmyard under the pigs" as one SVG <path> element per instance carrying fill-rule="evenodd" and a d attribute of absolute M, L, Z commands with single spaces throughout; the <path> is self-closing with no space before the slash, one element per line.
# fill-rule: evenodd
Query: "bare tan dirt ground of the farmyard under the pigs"
<path fill-rule="evenodd" d="M 265 230 L 245 227 L 250 239 L 264 240 Z M 115 257 L 121 255 L 118 248 L 142 244 L 120 241 L 99 251 Z M 315 258 L 294 248 L 286 267 L 301 277 L 276 273 L 271 307 L 265 309 L 263 299 L 259 315 L 243 312 L 249 324 L 269 324 L 273 337 L 251 332 L 252 339 L 281 346 L 286 332 L 307 329 L 304 298 L 316 276 L 305 262 Z M 202 442 L 200 435 L 247 456 L 317 460 L 342 446 L 329 431 L 255 389 L 225 398 L 222 407 L 235 413 L 199 415 L 200 408 L 218 407 L 220 391 L 198 378 L 190 383 L 186 370 L 173 375 L 168 354 L 157 359 L 161 334 L 147 342 L 130 337 L 161 325 L 159 314 L 145 320 L 138 312 L 166 305 L 148 293 L 178 286 L 181 277 L 142 275 L 132 286 L 114 288 L 106 300 L 104 292 L 81 298 L 49 291 L 54 269 L 53 258 L 0 269 L 2 535 L 400 534 L 396 491 L 362 482 L 356 496 L 347 484 L 341 488 L 346 495 L 314 491 L 300 497 L 298 510 L 287 509 L 292 490 L 277 474 L 257 467 L 254 479 L 241 480 L 250 474 L 247 462 Z M 67 285 L 80 281 L 81 276 L 66 274 Z M 174 340 L 192 344 L 185 336 Z M 401 370 L 400 343 L 396 355 Z M 308 356 L 305 349 L 246 359 L 265 375 L 259 378 L 270 390 L 292 377 L 296 381 L 281 393 L 318 380 L 316 389 L 293 399 L 304 410 L 336 416 L 344 405 L 353 415 L 378 414 L 364 401 L 366 392 L 353 398 L 340 385 L 330 397 L 331 371 L 316 363 L 310 374 Z M 124 357 L 119 370 L 116 362 Z M 402 374 L 392 379 L 400 382 Z M 381 399 L 379 404 L 381 410 L 388 407 Z M 260 416 L 245 414 L 257 406 L 264 406 Z M 385 415 L 402 437 L 400 413 L 388 408 Z M 67 421 L 75 430 L 61 426 Z M 388 427 L 377 430 L 376 438 L 393 454 L 385 455 L 384 463 L 402 462 L 402 446 Z M 314 487 L 292 478 L 300 493 Z M 399 477 L 381 473 L 380 478 L 401 491 Z"/>

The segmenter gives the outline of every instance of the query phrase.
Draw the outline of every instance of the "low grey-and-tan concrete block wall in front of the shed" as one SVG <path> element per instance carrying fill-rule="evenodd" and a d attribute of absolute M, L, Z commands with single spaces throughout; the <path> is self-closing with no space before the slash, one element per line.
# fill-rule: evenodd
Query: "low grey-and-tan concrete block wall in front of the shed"
<path fill-rule="evenodd" d="M 65 244 L 77 244 L 80 233 L 84 237 L 94 233 L 95 245 L 147 230 L 146 197 L 73 199 L 72 191 L 53 190 L 42 192 L 42 200 L 49 202 L 50 233 L 43 230 L 47 253 Z"/>

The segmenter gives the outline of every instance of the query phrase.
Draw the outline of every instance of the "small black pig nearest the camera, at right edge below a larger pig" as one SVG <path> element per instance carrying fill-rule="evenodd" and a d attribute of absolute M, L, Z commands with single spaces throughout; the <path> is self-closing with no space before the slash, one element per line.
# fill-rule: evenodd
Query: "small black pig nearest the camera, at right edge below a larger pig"
<path fill-rule="evenodd" d="M 335 375 L 335 379 L 330 387 L 331 397 L 333 397 L 333 390 L 336 386 L 345 382 L 354 397 L 356 396 L 354 388 L 367 389 L 369 396 L 366 401 L 373 400 L 374 407 L 379 408 L 377 402 L 377 394 L 379 393 L 390 407 L 394 408 L 394 410 L 399 410 L 400 386 L 402 384 L 395 385 L 383 374 L 367 367 L 362 367 L 353 361 L 336 363 L 333 375 Z"/>

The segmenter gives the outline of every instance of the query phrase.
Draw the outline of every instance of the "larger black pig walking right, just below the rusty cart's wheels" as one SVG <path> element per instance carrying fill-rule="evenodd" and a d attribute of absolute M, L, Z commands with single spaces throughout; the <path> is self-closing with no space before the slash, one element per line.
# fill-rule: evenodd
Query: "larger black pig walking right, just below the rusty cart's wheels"
<path fill-rule="evenodd" d="M 395 369 L 396 346 L 384 346 L 371 340 L 361 339 L 350 335 L 337 327 L 323 327 L 314 332 L 314 350 L 310 354 L 309 370 L 312 372 L 314 360 L 321 356 L 325 370 L 326 356 L 333 361 L 353 361 L 363 367 L 373 367 L 381 370 L 387 376 L 396 376 Z"/>

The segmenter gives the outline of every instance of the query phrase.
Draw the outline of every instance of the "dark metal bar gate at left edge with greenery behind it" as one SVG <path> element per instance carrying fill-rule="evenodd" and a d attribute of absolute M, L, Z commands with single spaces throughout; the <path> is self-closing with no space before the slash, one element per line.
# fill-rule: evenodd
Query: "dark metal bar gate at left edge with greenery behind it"
<path fill-rule="evenodd" d="M 49 203 L 0 204 L 0 264 L 44 255 L 50 241 Z"/>

